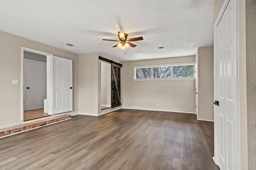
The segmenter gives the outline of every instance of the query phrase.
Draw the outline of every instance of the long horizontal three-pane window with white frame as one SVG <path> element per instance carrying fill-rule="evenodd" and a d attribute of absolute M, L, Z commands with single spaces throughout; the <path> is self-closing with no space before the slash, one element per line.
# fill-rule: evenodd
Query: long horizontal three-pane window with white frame
<path fill-rule="evenodd" d="M 134 80 L 171 80 L 191 78 L 194 78 L 194 63 L 134 67 Z"/>

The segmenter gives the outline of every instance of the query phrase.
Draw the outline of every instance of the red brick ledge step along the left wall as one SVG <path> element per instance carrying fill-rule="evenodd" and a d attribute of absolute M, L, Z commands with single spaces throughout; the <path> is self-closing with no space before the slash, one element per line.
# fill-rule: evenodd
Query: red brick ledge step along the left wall
<path fill-rule="evenodd" d="M 12 126 L 12 127 L 6 127 L 4 129 L 0 129 L 0 138 L 6 137 L 8 135 L 12 135 L 14 133 L 28 131 L 28 130 L 40 127 L 40 125 L 41 126 L 49 125 L 49 124 L 56 123 L 58 121 L 64 121 L 67 119 L 71 119 L 71 115 L 60 115 L 60 116 L 56 116 L 56 117 L 33 121 L 30 123 L 25 123 L 25 124 L 21 124 L 21 125 Z"/>

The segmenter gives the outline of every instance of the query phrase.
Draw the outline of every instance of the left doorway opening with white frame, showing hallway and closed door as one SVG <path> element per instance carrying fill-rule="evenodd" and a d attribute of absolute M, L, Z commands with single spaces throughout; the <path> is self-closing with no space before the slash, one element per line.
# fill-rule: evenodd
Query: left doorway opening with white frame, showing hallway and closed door
<path fill-rule="evenodd" d="M 50 116 L 44 113 L 47 97 L 47 59 L 52 55 L 22 47 L 21 49 L 21 121 Z"/>

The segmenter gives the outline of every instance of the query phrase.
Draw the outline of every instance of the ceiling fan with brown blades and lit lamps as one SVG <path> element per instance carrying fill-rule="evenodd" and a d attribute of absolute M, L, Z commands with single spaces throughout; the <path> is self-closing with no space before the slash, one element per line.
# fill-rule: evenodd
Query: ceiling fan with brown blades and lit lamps
<path fill-rule="evenodd" d="M 120 43 L 114 45 L 113 47 L 118 47 L 122 50 L 127 49 L 130 46 L 131 47 L 136 47 L 137 46 L 133 43 L 130 43 L 131 41 L 143 40 L 143 37 L 136 37 L 136 38 L 127 39 L 128 34 L 123 33 L 123 32 L 118 32 L 118 37 L 119 37 L 119 40 L 113 40 L 113 39 L 102 39 L 102 40 L 104 40 L 104 41 L 121 41 Z"/>

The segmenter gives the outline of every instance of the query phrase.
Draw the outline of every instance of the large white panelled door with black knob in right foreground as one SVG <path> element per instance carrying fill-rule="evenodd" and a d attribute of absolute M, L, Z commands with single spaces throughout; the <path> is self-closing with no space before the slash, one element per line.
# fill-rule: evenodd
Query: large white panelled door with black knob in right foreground
<path fill-rule="evenodd" d="M 217 77 L 214 109 L 217 112 L 217 164 L 220 170 L 238 168 L 237 100 L 236 100 L 236 9 L 230 0 L 217 26 Z M 215 155 L 216 156 L 216 155 Z"/>

